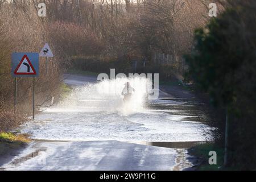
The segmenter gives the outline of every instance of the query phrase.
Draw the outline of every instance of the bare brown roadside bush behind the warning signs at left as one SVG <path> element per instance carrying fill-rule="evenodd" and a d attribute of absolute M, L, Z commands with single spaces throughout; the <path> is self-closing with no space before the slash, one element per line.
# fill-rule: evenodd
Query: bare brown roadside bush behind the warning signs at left
<path fill-rule="evenodd" d="M 0 131 L 14 129 L 32 111 L 32 79 L 18 78 L 18 106 L 14 114 L 14 78 L 11 77 L 11 53 L 39 52 L 47 42 L 55 57 L 49 61 L 48 75 L 44 59 L 40 59 L 40 75 L 36 78 L 36 105 L 47 104 L 59 95 L 61 53 L 48 35 L 48 23 L 37 15 L 32 4 L 3 3 L 0 7 Z M 59 46 L 60 47 L 60 46 Z M 50 79 L 51 78 L 51 79 Z"/>

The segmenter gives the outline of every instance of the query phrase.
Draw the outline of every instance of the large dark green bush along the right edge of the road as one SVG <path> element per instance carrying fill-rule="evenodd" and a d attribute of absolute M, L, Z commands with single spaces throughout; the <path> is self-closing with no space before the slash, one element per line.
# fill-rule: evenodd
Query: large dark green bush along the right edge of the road
<path fill-rule="evenodd" d="M 230 165 L 256 167 L 256 2 L 237 1 L 207 27 L 195 31 L 195 47 L 185 56 L 190 75 L 212 104 L 230 114 Z M 223 140 L 225 121 L 214 126 Z"/>

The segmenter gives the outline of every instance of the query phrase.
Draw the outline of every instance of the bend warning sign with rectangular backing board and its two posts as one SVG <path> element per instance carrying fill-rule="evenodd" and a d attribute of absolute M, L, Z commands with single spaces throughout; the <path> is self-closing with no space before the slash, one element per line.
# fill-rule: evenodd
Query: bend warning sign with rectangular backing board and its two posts
<path fill-rule="evenodd" d="M 35 77 L 39 76 L 39 54 L 31 52 L 15 52 L 11 55 L 11 75 L 14 82 L 14 110 L 17 105 L 17 77 L 34 77 L 32 113 L 35 119 Z"/>

